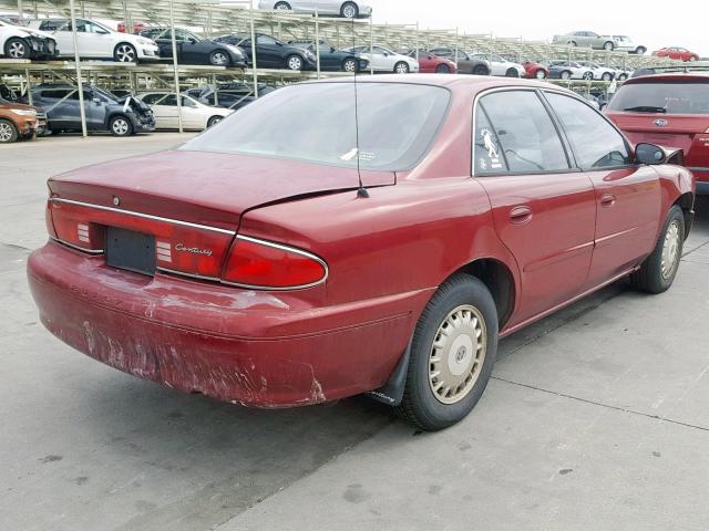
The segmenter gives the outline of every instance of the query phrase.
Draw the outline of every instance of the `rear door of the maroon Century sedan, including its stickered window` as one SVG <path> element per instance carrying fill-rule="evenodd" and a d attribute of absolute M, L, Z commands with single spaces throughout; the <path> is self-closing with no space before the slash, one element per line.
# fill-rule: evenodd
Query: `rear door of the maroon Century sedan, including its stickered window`
<path fill-rule="evenodd" d="M 593 253 L 594 187 L 572 167 L 535 90 L 483 95 L 473 123 L 474 176 L 490 197 L 497 235 L 521 273 L 514 325 L 580 293 Z"/>

